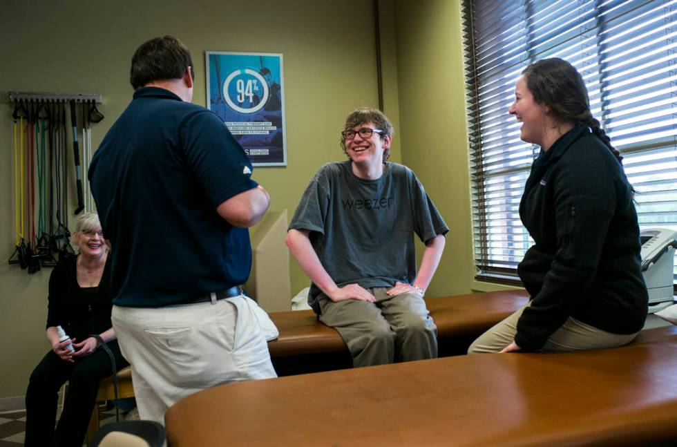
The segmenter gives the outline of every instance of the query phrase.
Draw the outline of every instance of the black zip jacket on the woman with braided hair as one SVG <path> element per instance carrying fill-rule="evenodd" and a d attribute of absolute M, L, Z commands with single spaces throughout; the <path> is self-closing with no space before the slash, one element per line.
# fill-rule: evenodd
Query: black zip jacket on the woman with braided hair
<path fill-rule="evenodd" d="M 649 298 L 631 186 L 587 126 L 541 151 L 519 216 L 535 242 L 518 267 L 532 299 L 517 323 L 520 348 L 542 348 L 569 316 L 614 334 L 642 329 Z"/>

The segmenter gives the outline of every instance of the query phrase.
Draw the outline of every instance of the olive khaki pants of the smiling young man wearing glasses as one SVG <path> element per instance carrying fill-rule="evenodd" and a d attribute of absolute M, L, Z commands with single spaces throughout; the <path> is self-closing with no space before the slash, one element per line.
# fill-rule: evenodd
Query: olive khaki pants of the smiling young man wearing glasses
<path fill-rule="evenodd" d="M 417 294 L 388 296 L 388 287 L 368 289 L 376 303 L 322 296 L 320 321 L 336 328 L 352 354 L 353 365 L 435 359 L 437 327 Z"/>

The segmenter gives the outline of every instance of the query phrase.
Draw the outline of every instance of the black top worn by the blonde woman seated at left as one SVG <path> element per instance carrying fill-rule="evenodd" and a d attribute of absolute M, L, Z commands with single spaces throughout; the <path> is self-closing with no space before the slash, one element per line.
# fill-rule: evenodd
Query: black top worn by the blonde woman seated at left
<path fill-rule="evenodd" d="M 111 329 L 113 295 L 107 286 L 110 263 L 106 263 L 99 287 L 80 287 L 75 257 L 60 260 L 49 277 L 47 327 L 64 328 L 71 339 L 83 341 L 91 334 Z"/>

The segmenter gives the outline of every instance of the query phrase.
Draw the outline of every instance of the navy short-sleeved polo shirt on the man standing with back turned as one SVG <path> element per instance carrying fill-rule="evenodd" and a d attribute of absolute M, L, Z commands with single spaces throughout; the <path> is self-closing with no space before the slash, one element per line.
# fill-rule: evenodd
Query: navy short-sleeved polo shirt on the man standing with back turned
<path fill-rule="evenodd" d="M 257 186 L 251 171 L 216 114 L 163 88 L 137 90 L 88 173 L 112 244 L 113 303 L 162 307 L 244 283 L 249 231 L 216 208 Z"/>

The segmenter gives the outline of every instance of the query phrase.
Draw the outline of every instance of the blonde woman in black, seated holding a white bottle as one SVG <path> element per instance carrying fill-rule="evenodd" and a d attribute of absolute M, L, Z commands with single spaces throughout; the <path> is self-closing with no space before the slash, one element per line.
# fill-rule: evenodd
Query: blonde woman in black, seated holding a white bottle
<path fill-rule="evenodd" d="M 110 376 L 111 360 L 90 334 L 99 334 L 115 356 L 118 370 L 128 363 L 120 354 L 111 325 L 108 247 L 95 213 L 77 219 L 75 258 L 61 260 L 49 278 L 47 339 L 52 345 L 30 374 L 26 391 L 26 446 L 82 446 L 94 408 L 99 380 Z M 59 342 L 57 326 L 70 341 Z M 70 349 L 70 345 L 74 351 Z M 57 393 L 68 381 L 59 424 Z"/>

